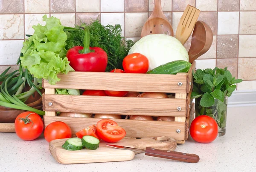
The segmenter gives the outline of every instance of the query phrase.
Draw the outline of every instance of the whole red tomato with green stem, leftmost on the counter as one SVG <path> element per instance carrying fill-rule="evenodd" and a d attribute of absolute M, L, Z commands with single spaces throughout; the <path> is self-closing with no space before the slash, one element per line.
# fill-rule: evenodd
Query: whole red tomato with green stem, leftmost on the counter
<path fill-rule="evenodd" d="M 22 140 L 35 140 L 43 130 L 44 122 L 35 112 L 23 112 L 15 119 L 15 132 Z"/>

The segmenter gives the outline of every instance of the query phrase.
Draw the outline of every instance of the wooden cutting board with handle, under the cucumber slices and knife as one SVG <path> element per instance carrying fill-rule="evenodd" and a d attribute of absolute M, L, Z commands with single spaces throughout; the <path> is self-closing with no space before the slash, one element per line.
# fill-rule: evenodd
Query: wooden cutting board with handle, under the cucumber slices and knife
<path fill-rule="evenodd" d="M 113 161 L 130 161 L 134 158 L 134 152 L 130 150 L 116 149 L 106 146 L 105 144 L 115 144 L 120 146 L 134 147 L 145 149 L 153 147 L 155 149 L 175 150 L 177 143 L 173 138 L 123 138 L 117 143 L 106 143 L 101 140 L 99 148 L 96 150 L 81 149 L 77 151 L 68 151 L 61 146 L 67 139 L 52 140 L 49 143 L 49 150 L 56 161 L 62 164 L 73 163 L 96 163 L 96 162 L 113 162 Z"/>

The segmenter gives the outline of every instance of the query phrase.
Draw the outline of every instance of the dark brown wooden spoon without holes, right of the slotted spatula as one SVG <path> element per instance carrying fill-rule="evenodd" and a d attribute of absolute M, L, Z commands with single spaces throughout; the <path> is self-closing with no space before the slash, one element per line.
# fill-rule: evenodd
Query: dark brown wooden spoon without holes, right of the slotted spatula
<path fill-rule="evenodd" d="M 192 34 L 189 49 L 189 62 L 193 63 L 198 57 L 206 53 L 212 45 L 212 29 L 207 23 L 197 21 Z"/>

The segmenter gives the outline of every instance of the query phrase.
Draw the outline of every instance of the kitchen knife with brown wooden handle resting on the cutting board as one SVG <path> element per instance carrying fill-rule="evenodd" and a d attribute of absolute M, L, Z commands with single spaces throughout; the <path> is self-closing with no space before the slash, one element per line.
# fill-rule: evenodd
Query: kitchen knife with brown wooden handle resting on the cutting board
<path fill-rule="evenodd" d="M 106 144 L 106 145 L 113 148 L 117 148 L 117 149 L 143 152 L 145 153 L 145 155 L 148 155 L 148 156 L 172 159 L 172 160 L 183 161 L 188 163 L 197 163 L 200 159 L 199 156 L 195 154 L 186 154 L 186 153 L 176 152 L 176 151 L 154 149 L 151 147 L 146 147 L 146 149 L 144 150 L 144 149 L 136 149 L 136 148 L 118 146 L 118 145 L 112 145 L 112 144 Z"/>

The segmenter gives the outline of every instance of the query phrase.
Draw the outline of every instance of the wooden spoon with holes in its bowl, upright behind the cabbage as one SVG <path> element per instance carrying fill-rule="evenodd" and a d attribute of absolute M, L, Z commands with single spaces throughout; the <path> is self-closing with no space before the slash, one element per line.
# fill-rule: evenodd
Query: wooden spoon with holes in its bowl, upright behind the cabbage
<path fill-rule="evenodd" d="M 144 24 L 140 37 L 148 34 L 167 34 L 173 36 L 172 25 L 163 14 L 161 0 L 154 0 L 154 9 Z"/>

